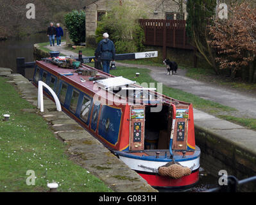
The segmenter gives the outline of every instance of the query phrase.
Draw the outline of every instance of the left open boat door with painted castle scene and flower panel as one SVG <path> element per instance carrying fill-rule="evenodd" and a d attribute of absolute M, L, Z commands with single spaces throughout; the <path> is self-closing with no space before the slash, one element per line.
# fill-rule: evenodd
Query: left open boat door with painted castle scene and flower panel
<path fill-rule="evenodd" d="M 130 151 L 144 150 L 145 106 L 130 106 Z"/>

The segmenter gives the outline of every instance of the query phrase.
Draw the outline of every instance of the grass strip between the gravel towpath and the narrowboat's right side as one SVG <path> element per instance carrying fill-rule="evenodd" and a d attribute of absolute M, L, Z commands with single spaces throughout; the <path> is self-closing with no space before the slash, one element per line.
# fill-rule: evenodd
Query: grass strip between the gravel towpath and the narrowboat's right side
<path fill-rule="evenodd" d="M 140 72 L 139 78 L 135 78 L 136 72 Z M 137 69 L 135 67 L 118 67 L 117 70 L 110 70 L 110 74 L 114 76 L 123 76 L 124 78 L 137 81 L 137 83 L 158 83 L 157 81 L 152 79 L 151 76 L 149 76 L 149 72 L 149 69 Z M 155 87 L 157 87 L 157 84 L 155 85 Z M 174 99 L 178 99 L 180 101 L 191 102 L 194 108 L 198 108 L 200 110 L 207 111 L 208 113 L 212 114 L 236 111 L 234 108 L 223 106 L 217 102 L 201 99 L 196 95 L 189 94 L 187 92 L 183 92 L 182 90 L 178 90 L 175 88 L 169 88 L 166 85 L 163 85 L 162 93 L 164 95 L 173 97 Z"/>

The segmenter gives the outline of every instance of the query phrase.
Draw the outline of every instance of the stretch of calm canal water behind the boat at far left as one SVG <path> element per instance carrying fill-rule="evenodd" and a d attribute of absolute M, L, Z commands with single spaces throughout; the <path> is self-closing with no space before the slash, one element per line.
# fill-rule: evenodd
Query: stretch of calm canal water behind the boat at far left
<path fill-rule="evenodd" d="M 26 61 L 34 61 L 33 45 L 47 42 L 46 33 L 37 33 L 30 37 L 17 40 L 15 38 L 0 41 L 0 67 L 6 67 L 17 72 L 16 58 L 26 58 Z M 32 69 L 26 69 L 26 78 L 32 77 Z"/>

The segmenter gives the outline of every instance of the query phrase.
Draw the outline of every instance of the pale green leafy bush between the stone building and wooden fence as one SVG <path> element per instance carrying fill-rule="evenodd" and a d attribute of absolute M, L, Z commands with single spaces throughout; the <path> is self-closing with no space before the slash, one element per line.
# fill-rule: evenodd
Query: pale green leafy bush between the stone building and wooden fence
<path fill-rule="evenodd" d="M 145 18 L 146 14 L 142 3 L 123 3 L 114 6 L 112 12 L 98 22 L 96 42 L 102 40 L 103 33 L 107 32 L 115 44 L 117 53 L 133 53 L 144 49 L 144 29 L 138 19 Z M 134 9 L 136 8 L 136 9 Z"/>

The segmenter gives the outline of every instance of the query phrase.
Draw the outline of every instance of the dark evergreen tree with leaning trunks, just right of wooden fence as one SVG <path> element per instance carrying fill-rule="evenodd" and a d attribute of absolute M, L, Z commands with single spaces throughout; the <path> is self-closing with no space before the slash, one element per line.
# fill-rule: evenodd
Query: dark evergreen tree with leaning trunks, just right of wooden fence
<path fill-rule="evenodd" d="M 187 35 L 191 44 L 218 74 L 215 64 L 215 51 L 209 45 L 211 17 L 215 15 L 215 0 L 187 0 Z"/>

